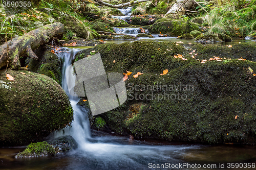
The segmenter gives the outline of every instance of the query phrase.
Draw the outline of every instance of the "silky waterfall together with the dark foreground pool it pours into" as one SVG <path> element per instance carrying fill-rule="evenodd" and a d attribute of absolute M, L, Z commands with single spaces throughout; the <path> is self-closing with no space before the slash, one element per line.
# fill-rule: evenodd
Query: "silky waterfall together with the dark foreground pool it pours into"
<path fill-rule="evenodd" d="M 69 94 L 66 82 L 66 76 L 71 76 L 70 73 L 66 75 L 66 68 L 81 49 L 68 50 L 69 53 L 60 56 L 65 60 L 62 86 L 69 95 L 74 109 L 74 122 L 71 128 L 53 133 L 52 137 L 71 135 L 77 141 L 78 149 L 54 157 L 15 159 L 14 155 L 24 150 L 24 147 L 0 148 L 0 169 L 159 169 L 153 168 L 157 167 L 157 164 L 160 166 L 162 164 L 161 169 L 210 169 L 198 168 L 199 165 L 228 169 L 230 162 L 256 163 L 256 147 L 251 145 L 202 145 L 161 140 L 131 141 L 129 137 L 90 130 L 88 110 L 76 105 L 79 98 Z M 220 163 L 224 163 L 225 168 L 220 168 Z M 187 168 L 188 164 L 193 168 Z"/>

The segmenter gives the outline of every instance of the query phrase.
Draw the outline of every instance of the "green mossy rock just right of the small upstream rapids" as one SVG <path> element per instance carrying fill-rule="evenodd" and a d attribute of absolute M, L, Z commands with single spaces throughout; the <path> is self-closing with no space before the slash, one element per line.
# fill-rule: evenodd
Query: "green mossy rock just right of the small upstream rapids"
<path fill-rule="evenodd" d="M 188 34 L 191 31 L 199 29 L 198 26 L 191 24 L 185 20 L 169 20 L 163 22 L 155 22 L 148 31 L 152 34 L 168 34 L 171 36 L 180 36 L 182 34 Z"/>

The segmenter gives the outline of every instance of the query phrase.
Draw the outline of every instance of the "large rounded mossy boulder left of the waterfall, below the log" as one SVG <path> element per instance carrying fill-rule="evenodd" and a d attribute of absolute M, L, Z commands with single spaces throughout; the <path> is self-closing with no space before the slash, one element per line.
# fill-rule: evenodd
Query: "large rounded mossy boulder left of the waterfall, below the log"
<path fill-rule="evenodd" d="M 8 70 L 14 78 L 9 81 L 4 72 L 0 72 L 0 145 L 28 144 L 70 125 L 73 109 L 55 80 Z"/>

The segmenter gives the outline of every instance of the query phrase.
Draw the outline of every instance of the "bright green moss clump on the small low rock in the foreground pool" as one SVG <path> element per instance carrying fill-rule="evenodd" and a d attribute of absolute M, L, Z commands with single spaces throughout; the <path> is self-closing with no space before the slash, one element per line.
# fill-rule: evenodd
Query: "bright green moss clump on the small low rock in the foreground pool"
<path fill-rule="evenodd" d="M 50 156 L 54 154 L 55 151 L 52 145 L 48 144 L 46 141 L 43 141 L 29 144 L 27 148 L 23 152 L 18 153 L 15 158 Z"/>

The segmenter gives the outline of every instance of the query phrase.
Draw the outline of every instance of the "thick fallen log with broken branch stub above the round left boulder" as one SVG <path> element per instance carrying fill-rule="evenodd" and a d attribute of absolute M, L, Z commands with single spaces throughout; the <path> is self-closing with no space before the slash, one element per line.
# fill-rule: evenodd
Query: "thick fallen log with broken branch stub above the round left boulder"
<path fill-rule="evenodd" d="M 9 40 L 0 46 L 0 69 L 7 65 L 12 68 L 20 66 L 19 56 L 24 53 L 27 53 L 32 59 L 38 59 L 33 49 L 47 43 L 53 37 L 63 34 L 64 31 L 64 25 L 56 22 Z"/>

